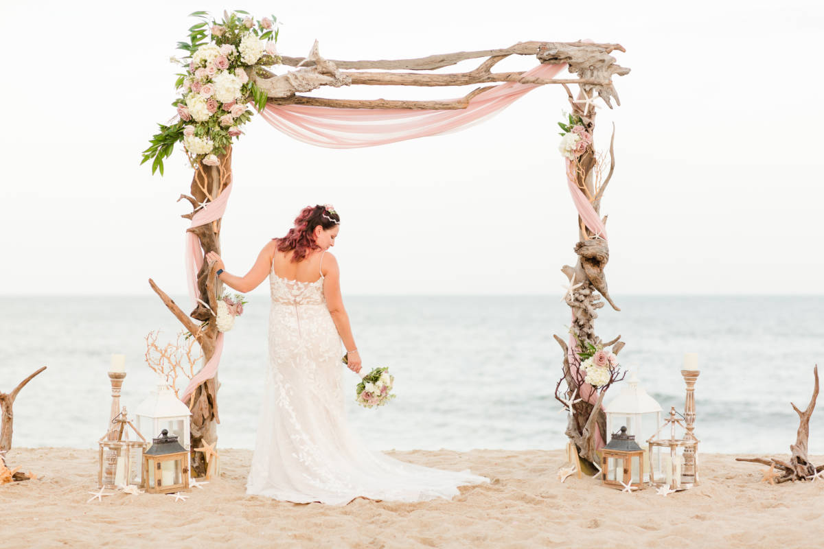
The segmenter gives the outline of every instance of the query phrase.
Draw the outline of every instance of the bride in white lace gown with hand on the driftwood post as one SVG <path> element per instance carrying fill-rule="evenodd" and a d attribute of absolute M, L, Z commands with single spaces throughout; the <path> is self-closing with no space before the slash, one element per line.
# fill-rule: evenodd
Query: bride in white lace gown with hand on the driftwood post
<path fill-rule="evenodd" d="M 358 497 L 451 499 L 457 486 L 489 482 L 469 470 L 443 471 L 390 458 L 367 449 L 350 430 L 341 341 L 350 370 L 358 373 L 361 359 L 340 295 L 338 262 L 327 253 L 339 230 L 333 207 L 306 207 L 286 236 L 265 245 L 244 277 L 224 271 L 218 254 L 207 254 L 218 263 L 220 280 L 236 291 L 250 291 L 269 275 L 269 369 L 246 493 L 345 505 Z M 352 385 L 346 395 L 354 395 L 355 381 L 346 379 Z"/>

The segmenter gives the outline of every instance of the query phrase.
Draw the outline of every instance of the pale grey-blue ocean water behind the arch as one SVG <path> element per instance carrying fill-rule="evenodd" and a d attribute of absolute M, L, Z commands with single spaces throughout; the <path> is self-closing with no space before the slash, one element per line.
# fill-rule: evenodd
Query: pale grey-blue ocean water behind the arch
<path fill-rule="evenodd" d="M 695 434 L 705 452 L 789 453 L 813 365 L 824 366 L 824 296 L 616 296 L 598 333 L 621 334 L 623 367 L 660 402 L 683 410 L 685 352 L 699 354 Z M 569 308 L 559 296 L 344 296 L 364 366 L 390 366 L 397 398 L 354 403 L 353 427 L 372 449 L 558 449 L 566 416 L 553 393 Z M 180 304 L 188 298 L 180 297 Z M 121 403 L 134 409 L 155 376 L 145 337 L 173 341 L 177 323 L 154 295 L 0 297 L 0 391 L 41 365 L 16 399 L 18 447 L 96 448 L 110 410 L 112 353 L 126 356 Z M 250 296 L 226 335 L 219 370 L 218 444 L 251 449 L 267 368 L 266 295 Z M 344 368 L 344 365 L 341 365 Z M 822 371 L 824 376 L 824 371 Z M 610 389 L 618 393 L 620 384 Z M 606 402 L 611 398 L 608 394 Z M 810 451 L 824 454 L 824 402 Z"/>

